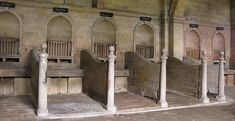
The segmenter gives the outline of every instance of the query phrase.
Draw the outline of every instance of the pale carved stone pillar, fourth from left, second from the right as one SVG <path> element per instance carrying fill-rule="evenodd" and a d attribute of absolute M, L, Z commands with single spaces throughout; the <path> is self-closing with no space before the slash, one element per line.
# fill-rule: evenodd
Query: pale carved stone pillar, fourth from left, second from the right
<path fill-rule="evenodd" d="M 207 97 L 207 56 L 205 51 L 202 51 L 202 95 L 201 101 L 203 103 L 209 103 L 209 98 Z"/>

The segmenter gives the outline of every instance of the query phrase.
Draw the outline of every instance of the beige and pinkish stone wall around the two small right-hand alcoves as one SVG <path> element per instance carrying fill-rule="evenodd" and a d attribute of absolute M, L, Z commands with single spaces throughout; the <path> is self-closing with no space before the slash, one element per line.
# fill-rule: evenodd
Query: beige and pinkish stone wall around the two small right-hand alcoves
<path fill-rule="evenodd" d="M 175 6 L 175 9 L 174 9 Z M 179 0 L 173 2 L 170 22 L 170 51 L 173 56 L 183 59 L 186 55 L 187 34 L 194 30 L 200 38 L 200 50 L 209 54 L 213 62 L 214 39 L 221 34 L 225 39 L 226 61 L 230 58 L 230 0 Z M 197 24 L 198 27 L 190 27 Z M 223 30 L 217 30 L 222 27 Z M 228 68 L 229 63 L 226 64 Z"/>

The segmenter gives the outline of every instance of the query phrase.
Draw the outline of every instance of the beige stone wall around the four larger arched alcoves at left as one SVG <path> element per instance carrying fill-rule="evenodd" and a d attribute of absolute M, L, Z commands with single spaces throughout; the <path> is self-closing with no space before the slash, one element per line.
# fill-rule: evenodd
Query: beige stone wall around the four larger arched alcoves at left
<path fill-rule="evenodd" d="M 93 27 L 97 21 L 103 19 L 112 21 L 116 27 L 116 43 L 117 43 L 117 64 L 124 64 L 124 53 L 126 51 L 133 51 L 133 32 L 134 28 L 141 23 L 140 16 L 146 16 L 146 14 L 134 13 L 134 12 L 120 12 L 118 10 L 106 10 L 97 8 L 83 8 L 75 7 L 71 4 L 57 4 L 57 3 L 45 3 L 35 2 L 27 0 L 6 0 L 16 3 L 16 8 L 0 8 L 0 14 L 2 12 L 10 12 L 15 15 L 20 23 L 20 63 L 27 66 L 28 56 L 32 48 L 39 47 L 43 41 L 48 38 L 48 23 L 53 18 L 63 18 L 68 21 L 72 26 L 72 56 L 75 63 L 80 63 L 80 51 L 82 49 L 92 48 Z M 68 13 L 55 13 L 52 11 L 52 7 L 66 7 L 69 8 Z M 113 12 L 112 18 L 100 17 L 100 11 Z M 160 48 L 160 32 L 159 32 L 159 18 L 158 16 L 152 17 L 151 22 L 145 22 L 151 25 L 155 31 L 155 45 Z M 63 24 L 61 24 L 63 28 Z M 50 25 L 49 25 L 50 27 Z M 60 30 L 53 30 L 60 32 Z M 52 31 L 52 32 L 53 32 Z M 51 34 L 50 34 L 51 35 Z M 53 34 L 52 34 L 53 35 Z M 54 35 L 53 35 L 54 36 Z M 159 53 L 156 50 L 156 53 Z"/>

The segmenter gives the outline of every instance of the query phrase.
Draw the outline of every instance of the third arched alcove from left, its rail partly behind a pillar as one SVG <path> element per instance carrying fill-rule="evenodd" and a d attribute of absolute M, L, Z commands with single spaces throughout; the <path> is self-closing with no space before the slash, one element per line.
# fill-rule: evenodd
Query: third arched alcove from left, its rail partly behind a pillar
<path fill-rule="evenodd" d="M 116 50 L 116 27 L 108 21 L 102 20 L 93 26 L 93 51 L 101 59 L 106 59 L 109 46 Z"/>

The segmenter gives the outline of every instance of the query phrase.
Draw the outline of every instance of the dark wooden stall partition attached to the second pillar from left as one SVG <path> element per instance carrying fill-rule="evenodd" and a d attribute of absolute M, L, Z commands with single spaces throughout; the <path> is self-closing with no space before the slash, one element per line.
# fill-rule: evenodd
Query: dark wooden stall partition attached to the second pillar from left
<path fill-rule="evenodd" d="M 91 51 L 81 51 L 84 70 L 82 90 L 96 101 L 107 104 L 108 64 L 101 62 Z"/>

